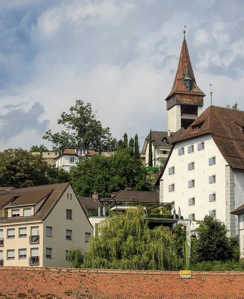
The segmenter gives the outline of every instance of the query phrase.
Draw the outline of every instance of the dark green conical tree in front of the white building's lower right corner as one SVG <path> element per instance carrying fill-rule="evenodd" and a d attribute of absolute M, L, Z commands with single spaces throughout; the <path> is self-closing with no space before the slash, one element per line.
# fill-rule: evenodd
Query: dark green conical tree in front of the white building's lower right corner
<path fill-rule="evenodd" d="M 197 261 L 225 261 L 232 259 L 233 249 L 227 236 L 224 222 L 213 216 L 205 216 L 197 221 L 198 236 L 196 242 Z"/>

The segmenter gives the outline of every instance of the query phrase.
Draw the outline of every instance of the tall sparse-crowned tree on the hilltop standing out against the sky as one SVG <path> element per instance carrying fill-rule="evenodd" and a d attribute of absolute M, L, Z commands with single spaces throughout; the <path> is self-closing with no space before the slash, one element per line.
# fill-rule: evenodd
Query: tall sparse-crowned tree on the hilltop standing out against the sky
<path fill-rule="evenodd" d="M 64 125 L 66 131 L 52 134 L 48 130 L 43 139 L 53 143 L 53 150 L 62 152 L 66 147 L 78 148 L 84 142 L 85 148 L 93 148 L 96 151 L 114 151 L 117 148 L 116 139 L 112 138 L 110 129 L 103 128 L 97 120 L 97 111 L 93 112 L 91 104 L 84 104 L 83 101 L 76 101 L 71 106 L 70 114 L 63 112 L 57 121 Z"/>

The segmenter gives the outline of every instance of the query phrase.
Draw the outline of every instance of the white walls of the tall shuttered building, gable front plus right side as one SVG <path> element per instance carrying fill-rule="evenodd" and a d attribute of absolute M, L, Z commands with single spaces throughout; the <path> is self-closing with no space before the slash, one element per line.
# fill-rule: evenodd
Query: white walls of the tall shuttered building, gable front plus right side
<path fill-rule="evenodd" d="M 198 150 L 201 146 L 204 149 Z M 177 208 L 180 206 L 184 218 L 190 220 L 214 214 L 234 236 L 238 234 L 238 219 L 230 212 L 244 203 L 243 190 L 243 170 L 233 170 L 212 137 L 204 135 L 175 145 L 161 177 L 160 202 L 174 202 Z M 193 222 L 191 230 L 195 229 Z"/>

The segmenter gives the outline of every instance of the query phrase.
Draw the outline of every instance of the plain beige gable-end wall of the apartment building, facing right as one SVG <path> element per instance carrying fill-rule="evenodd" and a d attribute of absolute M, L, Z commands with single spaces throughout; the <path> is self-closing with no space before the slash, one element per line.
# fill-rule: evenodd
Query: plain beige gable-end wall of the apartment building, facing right
<path fill-rule="evenodd" d="M 72 199 L 70 199 L 70 194 L 72 194 Z M 72 220 L 66 219 L 66 209 L 72 210 Z M 44 220 L 43 225 L 43 267 L 68 267 L 66 250 L 69 248 L 80 247 L 85 252 L 87 251 L 85 233 L 90 233 L 92 236 L 93 228 L 71 186 L 65 190 L 65 193 Z M 46 236 L 46 226 L 52 227 L 52 237 Z M 72 240 L 66 239 L 66 230 L 72 231 Z M 52 249 L 51 259 L 45 257 L 46 248 Z"/>

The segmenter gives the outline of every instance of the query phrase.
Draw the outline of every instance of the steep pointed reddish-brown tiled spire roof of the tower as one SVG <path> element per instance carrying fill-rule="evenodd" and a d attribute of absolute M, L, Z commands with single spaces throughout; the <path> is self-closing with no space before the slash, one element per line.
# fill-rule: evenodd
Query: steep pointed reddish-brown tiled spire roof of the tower
<path fill-rule="evenodd" d="M 188 66 L 188 76 L 192 79 L 192 90 L 188 92 L 185 86 L 184 79 L 186 77 L 186 71 Z M 181 48 L 181 55 L 179 59 L 178 69 L 175 76 L 175 81 L 171 90 L 171 93 L 165 100 L 168 100 L 174 94 L 186 94 L 186 95 L 198 95 L 198 96 L 205 96 L 205 94 L 200 90 L 197 86 L 195 76 L 192 69 L 192 64 L 190 60 L 190 55 L 188 52 L 187 42 L 184 38 L 182 48 Z"/>

